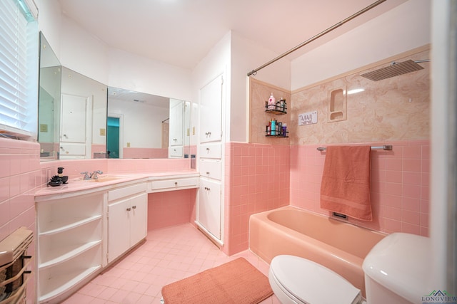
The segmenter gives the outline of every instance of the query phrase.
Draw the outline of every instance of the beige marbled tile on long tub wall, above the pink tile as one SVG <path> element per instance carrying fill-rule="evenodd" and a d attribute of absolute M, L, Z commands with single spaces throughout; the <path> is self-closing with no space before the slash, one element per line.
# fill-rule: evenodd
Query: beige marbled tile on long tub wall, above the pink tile
<path fill-rule="evenodd" d="M 428 53 L 423 51 L 407 58 L 395 58 L 395 61 L 428 58 Z M 291 94 L 291 123 L 288 125 L 291 145 L 428 140 L 430 64 L 421 63 L 421 66 L 423 70 L 376 82 L 361 77 L 366 70 L 296 90 Z M 329 119 L 329 96 L 339 88 L 345 88 L 347 117 L 333 122 Z M 353 89 L 363 91 L 347 94 Z M 315 110 L 318 112 L 316 124 L 298 125 L 298 114 Z M 407 159 L 420 159 L 420 151 L 413 147 L 405 149 Z M 413 166 L 414 163 L 411 161 L 405 165 Z"/>

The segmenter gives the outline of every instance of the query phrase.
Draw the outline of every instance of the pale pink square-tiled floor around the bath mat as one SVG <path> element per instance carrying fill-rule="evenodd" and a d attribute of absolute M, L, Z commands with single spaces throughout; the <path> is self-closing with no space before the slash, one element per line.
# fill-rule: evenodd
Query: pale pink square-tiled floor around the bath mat
<path fill-rule="evenodd" d="M 251 251 L 226 256 L 191 224 L 149 231 L 145 243 L 71 295 L 64 304 L 159 304 L 162 286 L 240 256 L 268 276 L 268 264 Z M 261 304 L 280 303 L 273 295 Z"/>

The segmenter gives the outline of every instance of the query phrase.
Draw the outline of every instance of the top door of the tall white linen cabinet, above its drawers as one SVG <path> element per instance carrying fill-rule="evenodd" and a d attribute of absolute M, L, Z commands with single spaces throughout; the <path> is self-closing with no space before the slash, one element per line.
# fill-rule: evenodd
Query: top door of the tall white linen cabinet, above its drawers
<path fill-rule="evenodd" d="M 200 142 L 221 140 L 222 85 L 219 75 L 200 90 Z"/>

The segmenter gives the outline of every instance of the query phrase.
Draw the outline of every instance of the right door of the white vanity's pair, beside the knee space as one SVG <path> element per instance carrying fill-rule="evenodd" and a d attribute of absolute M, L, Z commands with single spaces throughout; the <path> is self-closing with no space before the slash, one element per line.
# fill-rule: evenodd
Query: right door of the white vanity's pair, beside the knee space
<path fill-rule="evenodd" d="M 130 200 L 130 247 L 146 237 L 147 228 L 147 199 L 146 193 L 135 196 Z"/>

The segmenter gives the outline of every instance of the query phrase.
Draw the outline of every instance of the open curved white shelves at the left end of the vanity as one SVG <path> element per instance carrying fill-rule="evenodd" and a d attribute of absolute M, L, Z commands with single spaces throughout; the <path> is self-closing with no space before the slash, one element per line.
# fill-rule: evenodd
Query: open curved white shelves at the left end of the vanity
<path fill-rule="evenodd" d="M 103 266 L 104 194 L 36 197 L 39 303 L 60 303 Z"/>

